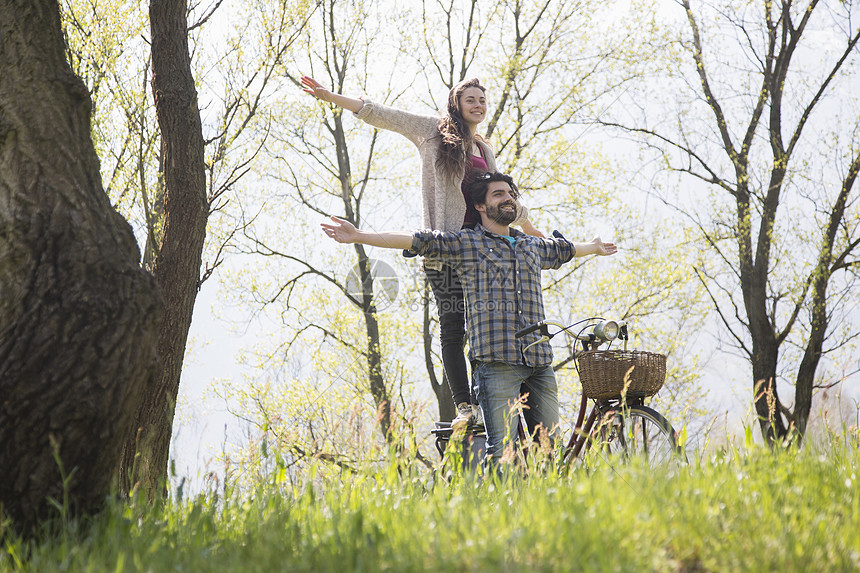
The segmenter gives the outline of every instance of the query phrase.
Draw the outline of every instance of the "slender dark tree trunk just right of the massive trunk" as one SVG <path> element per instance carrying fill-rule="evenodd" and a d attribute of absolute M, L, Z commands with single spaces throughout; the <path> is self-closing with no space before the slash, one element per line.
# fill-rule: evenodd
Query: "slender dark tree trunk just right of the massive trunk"
<path fill-rule="evenodd" d="M 158 338 L 162 368 L 137 412 L 120 465 L 120 489 L 166 493 L 176 397 L 202 261 L 209 206 L 203 130 L 188 52 L 184 0 L 152 0 L 152 91 L 161 129 L 164 228 L 153 273 L 164 293 Z"/>

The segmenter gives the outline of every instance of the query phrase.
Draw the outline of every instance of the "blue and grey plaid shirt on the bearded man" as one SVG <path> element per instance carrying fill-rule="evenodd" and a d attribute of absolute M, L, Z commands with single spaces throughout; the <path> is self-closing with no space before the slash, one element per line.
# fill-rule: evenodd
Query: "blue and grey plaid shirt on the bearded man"
<path fill-rule="evenodd" d="M 546 366 L 552 362 L 549 342 L 523 349 L 540 337 L 514 334 L 544 319 L 541 269 L 557 269 L 576 254 L 567 239 L 540 239 L 511 229 L 516 239 L 491 233 L 481 225 L 456 233 L 418 231 L 412 250 L 456 268 L 466 298 L 469 358 Z"/>

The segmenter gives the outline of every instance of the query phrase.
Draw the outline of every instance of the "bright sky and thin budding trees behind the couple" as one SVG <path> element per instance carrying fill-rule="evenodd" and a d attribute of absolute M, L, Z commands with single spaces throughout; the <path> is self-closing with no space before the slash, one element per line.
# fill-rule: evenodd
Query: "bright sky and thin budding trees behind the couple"
<path fill-rule="evenodd" d="M 480 129 L 535 225 L 575 239 L 600 234 L 622 249 L 546 273 L 548 314 L 625 319 L 634 347 L 667 354 L 657 407 L 684 428 L 688 448 L 722 439 L 725 411 L 708 390 L 730 385 L 745 388 L 746 429 L 769 444 L 801 441 L 825 414 L 857 425 L 855 3 L 235 0 L 185 8 L 60 3 L 64 55 L 91 103 L 94 187 L 130 223 L 142 269 L 166 293 L 162 366 L 124 441 L 126 490 L 144 484 L 157 495 L 165 476 L 296 479 L 320 461 L 354 470 L 382 461 L 392 444 L 432 466 L 422 440 L 453 405 L 423 276 L 414 260 L 329 245 L 318 231 L 329 215 L 365 228 L 419 227 L 417 154 L 400 136 L 304 94 L 304 74 L 426 113 L 442 108 L 460 79 L 481 78 L 490 105 Z M 3 9 L 32 13 L 13 0 Z M 170 24 L 165 37 L 187 41 L 187 58 L 180 49 L 159 60 L 170 53 L 153 32 L 161 18 Z M 182 81 L 193 97 L 174 108 L 190 117 L 184 139 L 169 137 L 177 124 L 153 98 L 168 93 L 156 87 L 159 70 L 176 62 L 191 72 Z M 11 85 L 4 97 L 14 95 Z M 15 105 L 33 101 L 18 95 Z M 171 182 L 171 169 L 186 163 L 198 167 Z M 171 186 L 199 190 L 193 225 L 170 223 L 181 211 Z M 13 237 L 4 249 L 17 244 Z M 196 251 L 173 298 L 167 255 L 180 247 Z M 372 259 L 396 271 L 393 302 L 392 281 L 374 274 Z M 210 339 L 201 301 L 249 336 Z M 11 340 L 6 325 L 23 324 L 18 303 L 4 304 L 0 349 Z M 200 327 L 186 347 L 188 329 Z M 203 343 L 240 368 L 202 376 L 201 393 L 201 376 L 191 382 L 183 358 L 187 366 L 205 356 Z M 572 405 L 570 351 L 557 348 L 555 367 Z M 4 377 L 16 372 L 13 361 L 3 364 Z M 203 397 L 230 413 L 218 419 L 223 433 L 200 413 Z M 197 454 L 194 475 L 183 475 L 176 468 L 187 462 L 171 459 L 169 444 L 193 450 L 203 430 L 220 451 L 211 460 Z"/>

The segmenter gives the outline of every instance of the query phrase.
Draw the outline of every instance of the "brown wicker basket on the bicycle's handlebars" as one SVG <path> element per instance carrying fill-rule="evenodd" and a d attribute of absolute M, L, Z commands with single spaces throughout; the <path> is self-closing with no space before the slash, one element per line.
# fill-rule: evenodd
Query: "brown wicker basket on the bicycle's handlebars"
<path fill-rule="evenodd" d="M 582 391 L 588 398 L 653 396 L 666 379 L 666 356 L 642 350 L 590 350 L 579 357 Z"/>

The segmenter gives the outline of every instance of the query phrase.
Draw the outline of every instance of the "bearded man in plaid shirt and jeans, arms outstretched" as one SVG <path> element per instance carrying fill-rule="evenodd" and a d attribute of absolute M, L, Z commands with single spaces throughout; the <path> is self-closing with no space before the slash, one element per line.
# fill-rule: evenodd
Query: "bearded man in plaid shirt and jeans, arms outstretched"
<path fill-rule="evenodd" d="M 554 437 L 558 426 L 550 344 L 532 345 L 538 333 L 514 337 L 545 318 L 541 269 L 559 268 L 574 257 L 612 255 L 617 249 L 599 237 L 572 243 L 560 235 L 544 239 L 511 229 L 518 191 L 503 173 L 476 177 L 468 192 L 481 217 L 474 230 L 374 233 L 337 217 L 322 227 L 339 243 L 408 249 L 457 268 L 466 298 L 469 358 L 487 430 L 487 456 L 498 462 L 506 444 L 516 439 L 511 409 L 521 394 L 527 395 L 523 415 L 529 432 L 543 428 Z"/>

